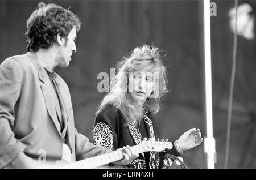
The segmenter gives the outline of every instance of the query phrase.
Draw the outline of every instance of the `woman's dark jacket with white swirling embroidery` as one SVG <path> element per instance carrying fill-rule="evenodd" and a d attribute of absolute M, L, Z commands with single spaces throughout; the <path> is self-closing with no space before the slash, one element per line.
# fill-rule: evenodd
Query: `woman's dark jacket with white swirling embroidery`
<path fill-rule="evenodd" d="M 127 125 L 125 118 L 118 108 L 114 105 L 106 105 L 104 109 L 97 115 L 93 130 L 94 144 L 114 151 L 125 145 L 141 144 L 142 138 L 158 138 L 154 132 L 154 118 L 151 113 L 144 115 L 139 126 Z M 143 136 L 142 136 L 143 135 Z M 144 152 L 139 154 L 137 160 L 127 165 L 128 168 L 136 169 L 158 169 L 164 168 L 163 160 L 166 153 L 180 156 L 175 147 L 170 151 L 164 152 Z"/>

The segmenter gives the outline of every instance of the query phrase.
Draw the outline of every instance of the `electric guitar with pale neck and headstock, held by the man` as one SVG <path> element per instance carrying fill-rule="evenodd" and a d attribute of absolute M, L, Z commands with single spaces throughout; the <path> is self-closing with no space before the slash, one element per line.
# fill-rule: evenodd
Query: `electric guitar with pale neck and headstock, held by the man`
<path fill-rule="evenodd" d="M 148 151 L 154 151 L 154 152 L 160 152 L 163 150 L 170 150 L 172 149 L 172 143 L 163 141 L 155 141 L 155 140 L 143 140 L 141 144 L 134 145 L 131 147 L 135 152 L 142 153 L 142 152 L 148 152 Z M 122 160 L 123 153 L 122 150 L 116 150 L 113 152 L 106 153 L 104 155 L 95 156 L 86 158 L 85 160 L 76 161 L 71 164 L 64 165 L 63 168 L 68 169 L 92 169 L 97 168 L 106 164 L 109 164 L 111 162 L 115 162 L 118 160 Z"/>

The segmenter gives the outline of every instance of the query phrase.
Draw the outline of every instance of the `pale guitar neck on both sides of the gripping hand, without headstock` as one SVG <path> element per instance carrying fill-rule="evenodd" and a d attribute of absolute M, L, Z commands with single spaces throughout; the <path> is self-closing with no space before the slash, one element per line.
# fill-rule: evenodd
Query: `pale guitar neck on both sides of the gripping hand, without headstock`
<path fill-rule="evenodd" d="M 134 145 L 131 147 L 135 152 L 142 153 L 144 152 L 143 145 Z M 123 152 L 121 150 L 105 153 L 104 155 L 95 156 L 86 158 L 85 160 L 73 162 L 72 164 L 65 165 L 64 168 L 83 168 L 83 169 L 92 169 L 97 168 L 99 166 L 103 166 L 105 164 L 109 164 L 111 162 L 115 162 L 118 160 L 122 160 Z"/>

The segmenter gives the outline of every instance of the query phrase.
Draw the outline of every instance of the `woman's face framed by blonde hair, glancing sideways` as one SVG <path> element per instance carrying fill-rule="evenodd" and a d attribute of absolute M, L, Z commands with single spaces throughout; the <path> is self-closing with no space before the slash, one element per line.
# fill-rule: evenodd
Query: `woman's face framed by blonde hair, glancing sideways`
<path fill-rule="evenodd" d="M 129 93 L 134 100 L 144 102 L 154 91 L 155 77 L 153 72 L 129 72 Z"/>

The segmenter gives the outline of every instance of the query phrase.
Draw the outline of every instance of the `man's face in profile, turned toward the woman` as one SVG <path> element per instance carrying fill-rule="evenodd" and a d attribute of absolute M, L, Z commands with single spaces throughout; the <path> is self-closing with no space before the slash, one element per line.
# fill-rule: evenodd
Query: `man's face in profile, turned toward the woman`
<path fill-rule="evenodd" d="M 64 44 L 60 45 L 59 49 L 59 67 L 67 67 L 69 62 L 71 61 L 71 56 L 73 53 L 76 52 L 76 27 L 74 26 L 73 29 L 69 32 L 69 35 L 66 38 L 63 38 Z"/>

